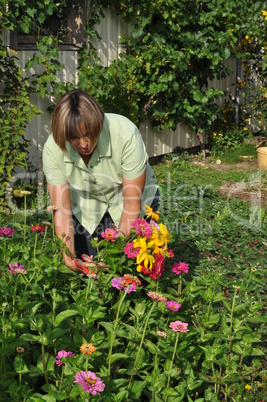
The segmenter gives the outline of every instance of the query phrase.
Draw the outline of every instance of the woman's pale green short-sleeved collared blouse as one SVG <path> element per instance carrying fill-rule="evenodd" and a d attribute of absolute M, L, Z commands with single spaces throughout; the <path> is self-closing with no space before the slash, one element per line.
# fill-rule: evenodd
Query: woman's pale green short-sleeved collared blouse
<path fill-rule="evenodd" d="M 69 183 L 72 212 L 93 233 L 108 210 L 116 225 L 123 211 L 122 178 L 135 179 L 146 170 L 140 217 L 151 205 L 157 182 L 138 128 L 126 117 L 105 114 L 103 130 L 88 166 L 66 143 L 62 151 L 50 135 L 43 149 L 43 170 L 51 185 Z"/>

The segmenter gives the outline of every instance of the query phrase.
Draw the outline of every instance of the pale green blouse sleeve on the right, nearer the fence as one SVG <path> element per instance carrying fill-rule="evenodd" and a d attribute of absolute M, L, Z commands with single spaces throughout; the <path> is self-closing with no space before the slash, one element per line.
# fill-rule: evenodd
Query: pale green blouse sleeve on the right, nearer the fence
<path fill-rule="evenodd" d="M 122 176 L 136 179 L 141 176 L 148 165 L 148 155 L 140 131 L 135 127 L 130 140 L 122 150 Z"/>

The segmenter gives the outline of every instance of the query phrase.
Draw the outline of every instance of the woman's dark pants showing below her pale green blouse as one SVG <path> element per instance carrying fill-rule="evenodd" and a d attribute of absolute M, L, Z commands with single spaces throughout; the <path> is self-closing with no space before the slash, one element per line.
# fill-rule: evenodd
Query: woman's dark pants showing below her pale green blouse
<path fill-rule="evenodd" d="M 157 211 L 159 204 L 159 191 L 157 190 L 155 198 L 151 204 L 153 211 Z M 103 218 L 101 219 L 99 225 L 93 234 L 90 234 L 73 215 L 73 226 L 74 226 L 74 243 L 76 257 L 81 258 L 81 254 L 96 255 L 97 250 L 92 247 L 90 240 L 97 238 L 98 241 L 102 240 L 103 237 L 101 233 L 107 228 L 112 228 L 114 222 L 107 211 Z"/>

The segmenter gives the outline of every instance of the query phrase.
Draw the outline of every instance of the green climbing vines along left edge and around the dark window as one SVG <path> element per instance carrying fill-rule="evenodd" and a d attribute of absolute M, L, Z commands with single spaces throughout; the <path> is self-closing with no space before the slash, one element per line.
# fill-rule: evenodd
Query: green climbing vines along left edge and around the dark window
<path fill-rule="evenodd" d="M 66 2 L 53 0 L 35 2 L 18 0 L 0 1 L 1 33 L 3 29 L 30 34 L 36 42 L 36 52 L 25 66 L 19 65 L 17 52 L 0 39 L 0 212 L 9 212 L 6 197 L 9 182 L 17 168 L 26 169 L 30 141 L 25 139 L 28 122 L 41 113 L 31 101 L 31 94 L 42 98 L 46 95 L 60 96 L 69 83 L 58 80 L 64 67 L 59 63 L 59 47 L 67 11 Z M 58 22 L 60 24 L 58 25 Z M 30 70 L 34 68 L 36 73 Z M 26 71 L 23 72 L 23 69 Z"/>

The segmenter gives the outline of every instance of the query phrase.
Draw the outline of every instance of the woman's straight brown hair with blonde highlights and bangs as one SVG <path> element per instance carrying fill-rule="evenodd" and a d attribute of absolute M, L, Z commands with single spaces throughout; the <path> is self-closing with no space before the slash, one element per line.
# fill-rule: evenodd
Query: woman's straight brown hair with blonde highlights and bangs
<path fill-rule="evenodd" d="M 104 124 L 104 112 L 86 92 L 74 89 L 63 95 L 53 112 L 51 129 L 56 144 L 66 151 L 66 141 L 87 135 L 96 141 Z"/>

